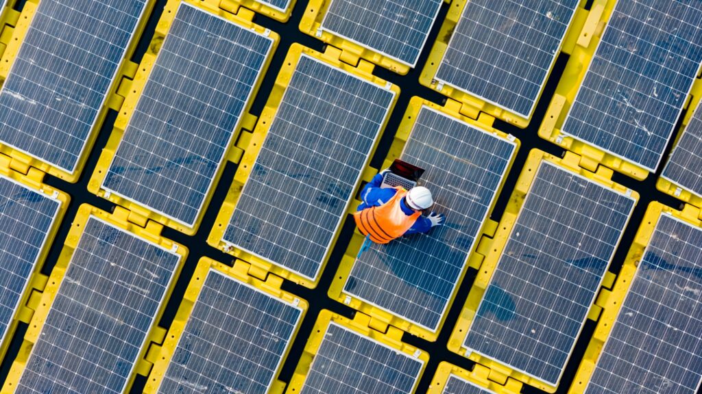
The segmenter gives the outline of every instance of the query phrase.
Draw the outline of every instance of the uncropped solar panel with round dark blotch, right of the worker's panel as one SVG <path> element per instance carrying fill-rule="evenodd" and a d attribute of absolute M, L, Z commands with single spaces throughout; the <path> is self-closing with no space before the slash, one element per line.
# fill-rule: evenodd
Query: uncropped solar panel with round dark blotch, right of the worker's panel
<path fill-rule="evenodd" d="M 542 161 L 463 346 L 555 386 L 635 199 Z"/>

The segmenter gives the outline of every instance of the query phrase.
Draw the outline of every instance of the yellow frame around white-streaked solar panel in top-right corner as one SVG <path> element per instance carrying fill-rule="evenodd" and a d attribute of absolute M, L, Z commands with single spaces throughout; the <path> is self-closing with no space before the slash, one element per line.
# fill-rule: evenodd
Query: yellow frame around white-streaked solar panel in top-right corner
<path fill-rule="evenodd" d="M 607 29 L 607 25 L 609 25 L 609 18 L 614 12 L 615 3 L 615 0 L 595 0 L 593 2 L 590 15 L 588 15 L 588 19 L 585 21 L 585 27 L 583 27 L 578 37 L 578 45 L 574 47 L 571 57 L 566 64 L 563 72 L 564 77 L 559 80 L 558 86 L 556 87 L 553 98 L 544 116 L 544 121 L 541 123 L 541 127 L 538 130 L 538 135 L 544 140 L 580 155 L 582 157 L 581 165 L 590 171 L 595 171 L 597 165 L 602 164 L 641 181 L 646 179 L 651 172 L 650 169 L 630 162 L 628 159 L 612 154 L 605 149 L 595 147 L 588 142 L 578 140 L 561 131 L 565 119 L 570 113 L 572 103 L 579 92 L 579 86 L 583 83 L 585 74 L 587 74 L 590 69 L 590 64 L 592 64 L 592 60 L 595 57 L 595 52 L 602 42 L 602 35 Z M 700 69 L 702 69 L 702 64 Z M 689 108 L 689 97 L 691 95 L 693 97 L 699 97 L 699 95 L 702 94 L 702 79 L 698 78 L 700 69 L 698 69 L 698 74 L 696 74 L 697 78 L 693 80 L 690 93 L 687 96 L 687 100 L 682 105 L 681 111 Z M 670 136 L 671 140 L 675 138 L 677 130 L 677 128 L 673 130 Z M 668 142 L 670 142 L 670 140 Z M 664 160 L 665 153 L 662 154 L 658 167 L 660 167 Z"/>

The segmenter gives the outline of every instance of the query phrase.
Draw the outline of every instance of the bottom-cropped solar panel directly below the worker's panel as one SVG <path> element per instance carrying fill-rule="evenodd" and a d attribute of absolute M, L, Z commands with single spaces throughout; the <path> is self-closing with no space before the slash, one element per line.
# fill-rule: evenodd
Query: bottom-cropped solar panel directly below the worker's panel
<path fill-rule="evenodd" d="M 413 393 L 424 362 L 330 323 L 302 394 Z"/>

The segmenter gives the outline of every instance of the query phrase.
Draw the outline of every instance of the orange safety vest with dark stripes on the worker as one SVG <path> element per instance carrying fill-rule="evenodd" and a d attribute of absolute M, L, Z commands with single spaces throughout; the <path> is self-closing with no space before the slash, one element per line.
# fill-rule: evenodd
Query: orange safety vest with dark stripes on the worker
<path fill-rule="evenodd" d="M 404 213 L 399 202 L 407 191 L 402 187 L 395 189 L 397 193 L 385 204 L 353 214 L 359 231 L 364 236 L 369 236 L 374 243 L 389 243 L 401 237 L 421 215 L 421 212 L 414 212 L 409 216 Z"/>

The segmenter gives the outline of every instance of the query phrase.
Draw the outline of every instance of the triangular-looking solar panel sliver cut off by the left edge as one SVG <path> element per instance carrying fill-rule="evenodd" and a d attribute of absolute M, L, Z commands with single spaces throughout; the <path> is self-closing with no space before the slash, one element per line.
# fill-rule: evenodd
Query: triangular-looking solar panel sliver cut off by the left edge
<path fill-rule="evenodd" d="M 60 205 L 0 176 L 0 343 L 20 307 Z"/>

